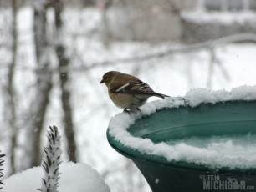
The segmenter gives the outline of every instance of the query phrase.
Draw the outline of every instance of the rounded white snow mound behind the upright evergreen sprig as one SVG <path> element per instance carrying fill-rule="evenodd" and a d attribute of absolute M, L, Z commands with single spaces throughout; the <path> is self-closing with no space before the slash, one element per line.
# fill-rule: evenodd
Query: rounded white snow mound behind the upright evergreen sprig
<path fill-rule="evenodd" d="M 100 178 L 100 174 L 87 164 L 74 164 L 72 162 L 60 164 L 59 191 L 81 192 L 96 191 L 109 192 L 110 187 Z M 34 192 L 41 189 L 43 168 L 27 169 L 3 181 L 5 192 Z"/>

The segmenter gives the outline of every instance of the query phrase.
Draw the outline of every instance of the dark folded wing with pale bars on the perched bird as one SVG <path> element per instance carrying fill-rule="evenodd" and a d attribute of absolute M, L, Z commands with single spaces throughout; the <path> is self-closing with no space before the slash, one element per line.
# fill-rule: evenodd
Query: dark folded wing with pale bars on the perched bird
<path fill-rule="evenodd" d="M 125 84 L 112 83 L 110 86 L 112 93 L 129 93 L 129 94 L 154 94 L 153 89 L 141 80 L 130 81 Z"/>

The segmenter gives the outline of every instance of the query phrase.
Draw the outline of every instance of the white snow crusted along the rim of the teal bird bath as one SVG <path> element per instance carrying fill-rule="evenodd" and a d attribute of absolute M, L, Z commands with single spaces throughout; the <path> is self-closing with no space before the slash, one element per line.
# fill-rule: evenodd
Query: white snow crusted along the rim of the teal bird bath
<path fill-rule="evenodd" d="M 134 137 L 126 130 L 137 119 L 141 119 L 141 117 L 152 114 L 159 109 L 179 108 L 181 106 L 195 107 L 198 104 L 216 104 L 218 102 L 240 100 L 256 100 L 256 86 L 233 88 L 231 92 L 196 88 L 189 91 L 184 98 L 167 98 L 146 104 L 141 107 L 140 114 L 123 112 L 115 115 L 110 120 L 110 134 L 126 147 L 137 149 L 142 154 L 160 155 L 169 161 L 185 160 L 189 163 L 206 164 L 212 168 L 256 168 L 256 142 L 254 140 L 256 135 L 247 135 L 242 139 L 239 137 L 228 138 L 227 136 L 221 139 L 215 137 L 204 140 L 205 144 L 199 146 L 195 145 L 195 138 L 192 138 L 186 142 L 181 140 L 170 145 L 163 142 L 154 144 L 151 139 Z M 200 140 L 198 139 L 197 142 Z M 233 144 L 233 142 L 237 144 Z"/>

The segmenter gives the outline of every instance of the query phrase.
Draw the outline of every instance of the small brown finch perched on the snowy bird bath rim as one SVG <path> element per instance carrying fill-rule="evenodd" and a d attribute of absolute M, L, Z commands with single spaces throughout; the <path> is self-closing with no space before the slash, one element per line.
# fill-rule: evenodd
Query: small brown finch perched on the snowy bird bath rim
<path fill-rule="evenodd" d="M 156 93 L 147 83 L 127 73 L 109 71 L 102 77 L 100 83 L 105 83 L 110 99 L 113 103 L 124 109 L 125 112 L 140 112 L 139 107 L 146 104 L 151 96 L 161 99 L 170 97 L 166 94 Z"/>

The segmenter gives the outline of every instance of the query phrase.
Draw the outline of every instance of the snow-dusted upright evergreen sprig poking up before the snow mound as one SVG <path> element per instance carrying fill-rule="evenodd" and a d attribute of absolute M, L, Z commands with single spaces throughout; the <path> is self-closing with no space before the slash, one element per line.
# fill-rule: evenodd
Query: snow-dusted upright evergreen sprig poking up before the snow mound
<path fill-rule="evenodd" d="M 59 181 L 60 155 L 60 135 L 57 127 L 49 127 L 47 135 L 48 144 L 44 148 L 44 158 L 42 167 L 44 168 L 44 177 L 42 178 L 42 192 L 57 192 Z"/>

